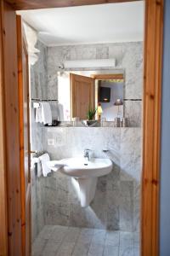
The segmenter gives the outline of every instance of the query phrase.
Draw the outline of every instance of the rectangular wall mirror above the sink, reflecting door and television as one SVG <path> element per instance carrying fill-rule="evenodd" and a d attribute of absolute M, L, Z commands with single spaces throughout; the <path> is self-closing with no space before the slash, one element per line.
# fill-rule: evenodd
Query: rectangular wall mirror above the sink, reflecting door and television
<path fill-rule="evenodd" d="M 64 121 L 122 118 L 124 82 L 122 70 L 59 72 L 58 100 Z"/>

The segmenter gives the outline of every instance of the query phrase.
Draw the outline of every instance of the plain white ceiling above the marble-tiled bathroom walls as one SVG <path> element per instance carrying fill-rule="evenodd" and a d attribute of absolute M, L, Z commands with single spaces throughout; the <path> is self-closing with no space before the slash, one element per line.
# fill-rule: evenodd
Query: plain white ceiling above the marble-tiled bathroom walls
<path fill-rule="evenodd" d="M 144 2 L 20 11 L 48 46 L 142 41 Z"/>

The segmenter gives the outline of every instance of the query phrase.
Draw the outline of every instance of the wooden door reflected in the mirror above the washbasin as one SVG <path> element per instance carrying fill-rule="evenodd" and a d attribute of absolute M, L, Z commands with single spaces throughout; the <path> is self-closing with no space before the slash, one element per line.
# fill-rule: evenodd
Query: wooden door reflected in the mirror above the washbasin
<path fill-rule="evenodd" d="M 94 108 L 94 79 L 71 73 L 71 117 L 87 119 L 88 107 Z"/>

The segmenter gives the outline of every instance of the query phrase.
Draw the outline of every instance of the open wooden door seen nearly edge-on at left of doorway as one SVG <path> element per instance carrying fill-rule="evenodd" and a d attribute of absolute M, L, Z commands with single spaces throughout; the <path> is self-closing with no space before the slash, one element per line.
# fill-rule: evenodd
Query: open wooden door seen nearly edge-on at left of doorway
<path fill-rule="evenodd" d="M 31 160 L 29 73 L 26 36 L 17 15 L 18 81 L 20 110 L 20 177 L 22 255 L 31 255 Z"/>

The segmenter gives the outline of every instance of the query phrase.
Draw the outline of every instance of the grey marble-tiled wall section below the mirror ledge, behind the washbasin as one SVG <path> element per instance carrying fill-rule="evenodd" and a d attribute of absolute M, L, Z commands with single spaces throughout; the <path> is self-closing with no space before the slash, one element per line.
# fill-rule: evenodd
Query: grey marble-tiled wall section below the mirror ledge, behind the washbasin
<path fill-rule="evenodd" d="M 42 148 L 51 160 L 82 156 L 84 148 L 91 148 L 95 157 L 113 161 L 112 172 L 99 177 L 94 201 L 87 208 L 80 206 L 70 177 L 59 172 L 42 177 L 45 224 L 139 230 L 140 195 L 136 191 L 141 173 L 140 128 L 43 127 L 42 137 Z M 54 139 L 54 146 L 48 146 L 48 138 Z M 103 153 L 103 148 L 109 152 Z"/>

